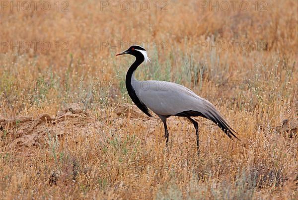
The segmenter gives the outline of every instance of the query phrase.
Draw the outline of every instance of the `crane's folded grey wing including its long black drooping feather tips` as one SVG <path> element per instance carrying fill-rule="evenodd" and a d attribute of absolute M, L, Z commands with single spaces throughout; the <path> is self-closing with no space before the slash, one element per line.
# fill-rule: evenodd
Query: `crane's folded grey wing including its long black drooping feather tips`
<path fill-rule="evenodd" d="M 150 110 L 161 116 L 204 117 L 219 126 L 229 138 L 237 138 L 212 103 L 190 89 L 166 81 L 140 81 L 136 94 Z M 238 139 L 238 138 L 237 138 Z"/>

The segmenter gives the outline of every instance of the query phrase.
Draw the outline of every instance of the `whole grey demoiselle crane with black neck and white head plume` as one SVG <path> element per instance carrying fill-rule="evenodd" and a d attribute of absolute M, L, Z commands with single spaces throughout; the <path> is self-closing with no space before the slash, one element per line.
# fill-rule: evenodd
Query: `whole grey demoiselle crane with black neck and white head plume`
<path fill-rule="evenodd" d="M 197 136 L 197 151 L 199 153 L 198 123 L 191 117 L 203 117 L 211 120 L 219 126 L 231 139 L 237 138 L 236 133 L 224 120 L 222 114 L 212 103 L 199 97 L 190 89 L 167 81 L 145 80 L 135 78 L 136 69 L 145 61 L 149 61 L 147 51 L 138 45 L 133 45 L 126 51 L 116 56 L 130 54 L 136 57 L 136 61 L 129 67 L 125 85 L 132 101 L 149 117 L 149 109 L 153 111 L 163 122 L 166 145 L 169 141 L 166 119 L 170 116 L 186 117 L 195 127 Z M 237 138 L 238 139 L 238 138 Z"/>

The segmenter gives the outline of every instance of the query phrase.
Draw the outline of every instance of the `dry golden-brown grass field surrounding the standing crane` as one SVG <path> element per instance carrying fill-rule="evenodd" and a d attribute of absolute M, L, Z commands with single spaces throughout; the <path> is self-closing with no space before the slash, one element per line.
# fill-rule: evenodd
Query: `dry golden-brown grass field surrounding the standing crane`
<path fill-rule="evenodd" d="M 136 11 L 101 11 L 100 1 L 76 0 L 68 1 L 65 12 L 48 2 L 50 11 L 0 11 L 2 198 L 298 198 L 298 137 L 271 129 L 298 120 L 296 0 L 266 1 L 263 12 L 255 11 L 255 1 L 247 1 L 247 11 L 216 11 L 200 10 L 198 0 L 169 0 L 164 12 L 153 1 L 149 11 L 140 4 Z M 60 10 L 66 5 L 61 3 Z M 52 46 L 11 51 L 3 41 Z M 186 120 L 169 121 L 167 150 L 158 119 L 135 108 L 117 114 L 131 103 L 123 81 L 133 58 L 116 59 L 126 45 L 111 46 L 123 41 L 150 44 L 152 64 L 138 69 L 139 79 L 190 87 L 216 105 L 241 141 L 232 142 L 198 118 L 197 157 L 194 129 Z M 210 50 L 202 41 L 247 41 L 259 48 Z M 68 51 L 61 49 L 65 44 Z M 76 102 L 87 114 L 57 121 L 58 111 Z M 41 120 L 42 113 L 53 121 Z"/>

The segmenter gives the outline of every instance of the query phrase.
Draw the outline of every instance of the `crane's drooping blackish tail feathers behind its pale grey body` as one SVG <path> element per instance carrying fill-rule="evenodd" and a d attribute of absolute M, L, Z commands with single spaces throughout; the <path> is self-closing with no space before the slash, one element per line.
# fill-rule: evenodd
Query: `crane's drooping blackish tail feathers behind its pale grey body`
<path fill-rule="evenodd" d="M 175 116 L 179 117 L 203 117 L 208 120 L 211 120 L 214 122 L 219 128 L 222 129 L 222 131 L 231 139 L 235 137 L 239 140 L 239 138 L 235 135 L 237 134 L 224 120 L 224 117 L 222 114 L 209 102 L 204 101 L 204 108 L 200 108 L 198 110 L 201 111 L 195 111 L 195 110 L 189 110 L 184 111 L 181 113 L 176 114 Z"/>

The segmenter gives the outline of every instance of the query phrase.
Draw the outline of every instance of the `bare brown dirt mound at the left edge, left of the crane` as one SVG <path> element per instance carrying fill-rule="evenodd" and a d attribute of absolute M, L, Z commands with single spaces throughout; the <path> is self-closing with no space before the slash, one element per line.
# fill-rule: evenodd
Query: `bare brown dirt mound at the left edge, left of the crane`
<path fill-rule="evenodd" d="M 74 130 L 86 127 L 94 119 L 83 111 L 79 104 L 69 104 L 56 117 L 41 114 L 36 119 L 17 116 L 11 119 L 0 119 L 0 149 L 1 151 L 15 151 L 30 155 L 32 147 L 44 147 L 46 139 L 54 134 L 65 134 L 68 124 Z"/>

